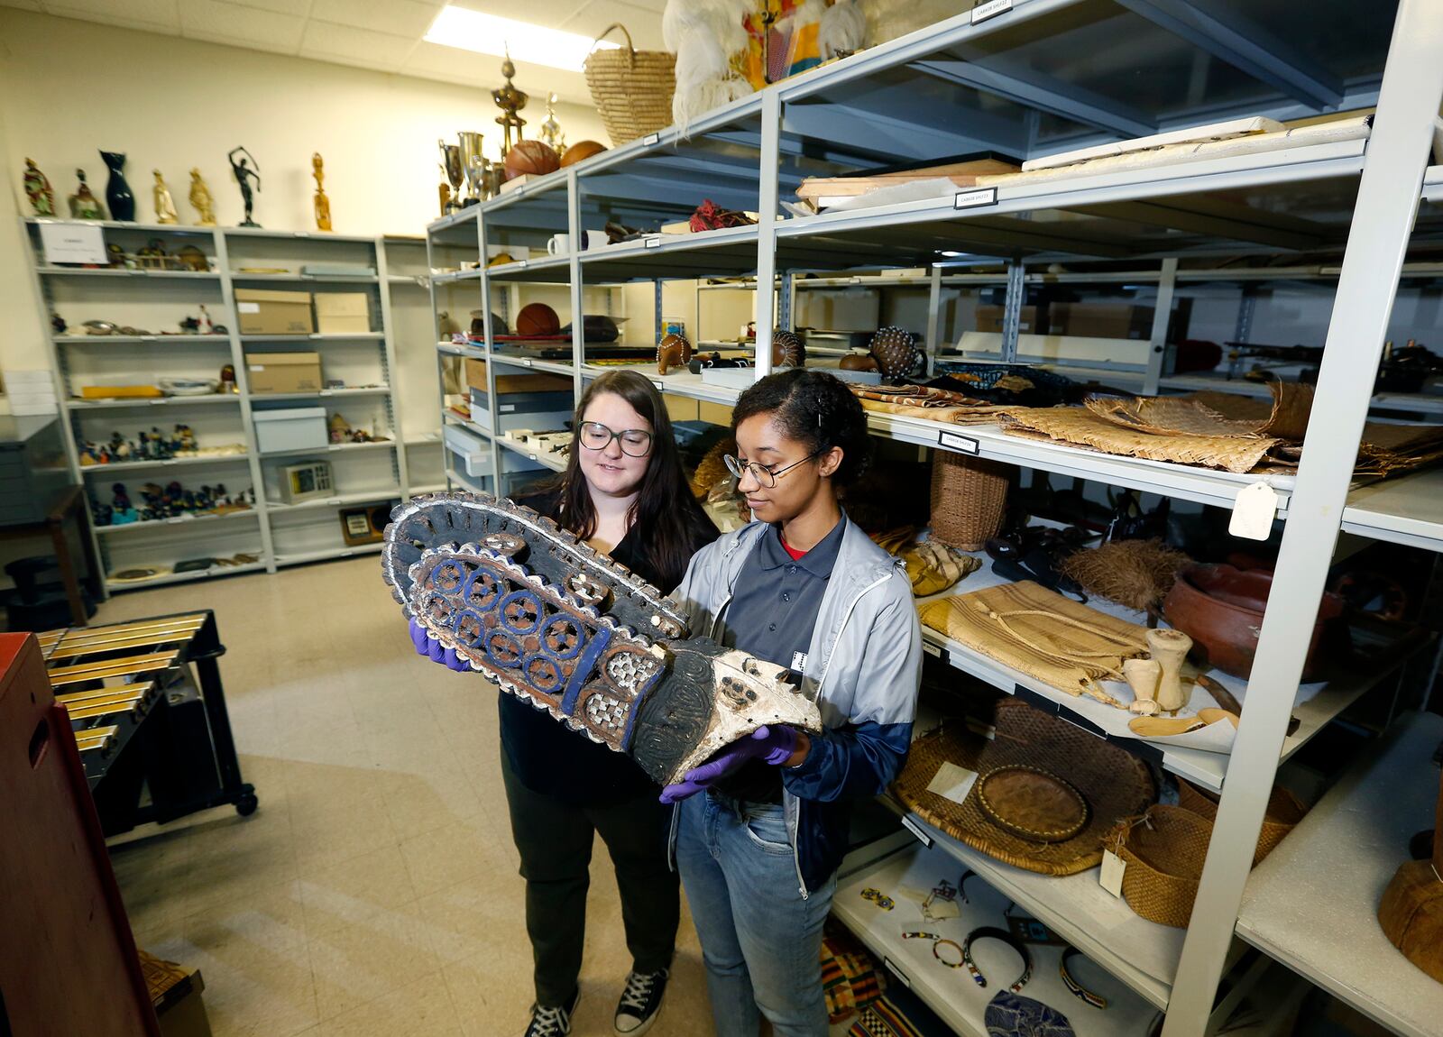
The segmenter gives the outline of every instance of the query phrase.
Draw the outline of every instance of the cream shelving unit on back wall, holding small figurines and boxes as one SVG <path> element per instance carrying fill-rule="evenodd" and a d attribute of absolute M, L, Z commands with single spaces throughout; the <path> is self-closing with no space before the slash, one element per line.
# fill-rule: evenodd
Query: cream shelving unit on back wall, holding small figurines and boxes
<path fill-rule="evenodd" d="M 136 557 L 136 551 L 156 551 L 159 554 L 173 554 L 176 557 L 225 554 L 231 550 L 241 550 L 245 554 L 255 554 L 260 561 L 242 565 L 216 565 L 192 573 L 169 574 L 143 583 L 105 581 L 105 588 L 111 591 L 131 587 L 154 587 L 180 580 L 198 580 L 209 575 L 228 575 L 232 573 L 253 573 L 266 570 L 274 573 L 278 565 L 296 564 L 300 561 L 319 561 L 330 557 L 351 557 L 364 548 L 352 548 L 341 541 L 339 519 L 325 515 L 326 509 L 346 505 L 384 503 L 391 498 L 403 498 L 408 493 L 408 457 L 416 451 L 433 450 L 433 441 L 414 438 L 408 443 L 385 441 L 377 444 L 329 444 L 320 450 L 297 450 L 283 453 L 260 453 L 255 440 L 254 411 L 257 407 L 267 407 L 280 402 L 313 401 L 315 404 L 342 401 L 352 404 L 367 404 L 377 407 L 388 433 L 397 436 L 401 428 L 401 410 L 397 402 L 392 384 L 392 372 L 397 371 L 397 332 L 392 317 L 392 293 L 407 291 L 424 286 L 424 278 L 417 275 L 392 274 L 388 265 L 387 248 L 401 254 L 405 247 L 420 251 L 420 239 L 378 239 L 355 235 L 307 234 L 266 231 L 253 228 L 203 228 L 185 225 L 141 225 L 121 224 L 115 221 L 98 222 L 108 241 L 126 244 L 144 242 L 149 238 L 160 237 L 167 242 L 193 244 L 206 254 L 214 270 L 211 271 L 154 271 L 154 270 L 87 270 L 75 267 L 53 267 L 40 261 L 39 225 L 46 221 L 25 221 L 30 232 L 32 255 L 35 257 L 35 277 L 42 299 L 51 307 L 61 306 L 71 310 L 71 316 L 100 317 L 104 316 L 98 307 L 121 309 L 126 313 L 139 312 L 139 307 L 150 307 L 156 313 L 163 309 L 173 309 L 176 316 L 193 312 L 198 303 L 203 303 L 216 325 L 224 325 L 227 332 L 211 335 L 76 335 L 63 333 L 49 336 L 52 366 L 56 371 L 56 395 L 61 400 L 61 424 L 66 437 L 66 450 L 71 457 L 76 479 L 87 483 L 92 495 L 115 476 L 126 480 L 137 475 L 141 480 L 153 477 L 165 482 L 162 475 L 172 466 L 185 466 L 186 472 L 203 472 L 208 482 L 225 480 L 231 489 L 237 487 L 235 473 L 238 466 L 245 466 L 250 483 L 255 489 L 255 506 L 250 511 L 229 512 L 212 516 L 176 518 L 153 522 L 133 522 L 114 526 L 95 526 L 94 538 L 98 557 L 107 560 L 107 568 L 136 567 L 153 560 Z M 68 221 L 52 221 L 68 222 Z M 89 225 L 95 225 L 91 222 Z M 127 250 L 134 251 L 134 250 Z M 278 258 L 283 262 L 299 265 L 304 261 L 322 261 L 342 258 L 345 261 L 364 262 L 375 268 L 371 275 L 309 275 L 309 274 L 260 274 L 241 270 L 247 261 L 257 258 Z M 371 300 L 372 327 L 375 330 L 346 335 L 240 335 L 240 320 L 235 309 L 237 287 L 258 286 L 294 286 L 297 288 L 315 288 L 317 291 L 345 290 L 348 286 L 364 291 Z M 92 312 L 95 310 L 95 312 Z M 149 323 L 154 326 L 154 317 L 136 317 L 131 323 Z M 72 320 L 72 323 L 78 323 Z M 255 394 L 247 384 L 245 350 L 264 346 L 302 346 L 323 353 L 332 353 L 332 359 L 343 356 L 342 365 L 351 369 L 369 366 L 372 372 L 369 381 L 375 385 L 356 388 L 320 389 L 316 392 L 284 392 L 284 394 Z M 335 353 L 333 350 L 342 350 Z M 219 353 L 224 352 L 224 359 Z M 84 358 L 84 359 L 82 359 Z M 104 371 L 105 382 L 134 381 L 147 384 L 157 372 L 175 371 L 177 374 L 214 376 L 222 363 L 231 363 L 237 372 L 238 392 L 234 395 L 202 395 L 202 397 L 160 397 L 160 398 L 117 398 L 117 400 L 79 400 L 71 395 L 78 391 L 72 384 L 75 378 L 84 378 L 87 368 L 94 372 Z M 127 366 L 128 365 L 128 366 Z M 128 372 L 123 374 L 123 372 Z M 351 376 L 352 381 L 361 381 Z M 153 411 L 152 408 L 162 408 Z M 163 412 L 167 421 L 176 418 L 189 420 L 196 424 L 202 446 L 219 443 L 241 443 L 245 453 L 224 456 L 177 457 L 165 462 L 121 462 L 113 464 L 81 466 L 78 444 L 84 437 L 104 438 L 101 425 L 94 424 L 101 417 L 114 417 L 117 423 L 144 423 L 146 412 L 152 415 Z M 429 412 L 429 411 L 427 411 Z M 227 417 L 228 415 L 228 417 Z M 152 418 L 153 421 L 154 418 Z M 88 431 L 82 423 L 89 421 Z M 218 424 L 218 423 L 224 423 Z M 224 431 L 221 431 L 224 427 Z M 359 453 L 354 453 L 359 451 Z M 267 492 L 268 480 L 274 482 L 273 460 L 293 460 L 303 457 L 377 457 L 368 464 L 384 466 L 385 475 L 377 477 L 359 472 L 355 482 L 362 489 L 356 492 L 345 490 L 335 498 L 303 505 L 284 506 L 273 499 L 267 500 L 274 490 Z M 214 476 L 212 476 L 214 470 Z M 378 489 L 365 489 L 375 486 Z M 286 551 L 284 544 L 277 547 L 277 526 L 273 518 L 291 515 L 300 511 L 302 516 L 310 515 L 317 525 L 329 524 L 326 539 L 335 541 L 333 548 Z M 232 519 L 254 516 L 258 519 L 251 532 L 245 532 L 237 539 L 235 529 L 251 529 L 251 526 L 229 521 L 212 522 L 212 519 Z M 165 528 L 167 534 L 176 534 L 183 539 L 176 544 L 156 542 L 147 537 L 147 531 Z M 287 526 L 289 529 L 290 526 Z M 193 535 L 192 535 L 193 534 Z M 307 537 L 316 539 L 317 537 Z M 222 545 L 224 550 L 211 550 L 212 545 Z M 133 547 L 143 545 L 143 547 Z M 114 562 L 123 558 L 123 562 Z"/>

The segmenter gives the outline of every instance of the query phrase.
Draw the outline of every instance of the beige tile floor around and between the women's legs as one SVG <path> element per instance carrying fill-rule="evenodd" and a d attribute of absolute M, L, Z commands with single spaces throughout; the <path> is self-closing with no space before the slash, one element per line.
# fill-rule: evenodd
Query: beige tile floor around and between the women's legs
<path fill-rule="evenodd" d="M 216 613 L 260 809 L 113 848 L 139 945 L 202 971 L 215 1037 L 519 1037 L 531 949 L 496 692 L 417 659 L 375 557 L 121 594 L 95 622 L 186 609 Z M 631 966 L 602 844 L 592 877 L 579 1037 L 612 1033 Z M 713 1033 L 683 912 L 657 1037 Z"/>

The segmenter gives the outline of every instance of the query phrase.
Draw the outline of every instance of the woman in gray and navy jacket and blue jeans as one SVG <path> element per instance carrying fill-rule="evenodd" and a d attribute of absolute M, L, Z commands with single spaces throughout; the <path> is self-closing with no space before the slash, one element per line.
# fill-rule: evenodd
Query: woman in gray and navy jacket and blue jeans
<path fill-rule="evenodd" d="M 667 786 L 672 848 L 701 937 L 719 1037 L 824 1037 L 821 929 L 850 805 L 906 757 L 922 635 L 902 562 L 850 522 L 837 490 L 870 453 L 856 397 L 792 369 L 732 411 L 727 467 L 753 522 L 703 548 L 677 591 L 693 635 L 789 668 L 824 730 L 760 728 Z"/>

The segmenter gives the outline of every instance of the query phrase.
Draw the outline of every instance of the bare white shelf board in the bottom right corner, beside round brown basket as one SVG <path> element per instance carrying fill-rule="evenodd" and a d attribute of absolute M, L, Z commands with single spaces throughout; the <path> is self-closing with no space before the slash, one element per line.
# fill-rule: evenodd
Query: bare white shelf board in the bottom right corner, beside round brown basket
<path fill-rule="evenodd" d="M 1248 880 L 1238 936 L 1404 1037 L 1443 1030 L 1443 984 L 1382 935 L 1378 901 L 1433 826 L 1443 717 L 1401 720 Z"/>

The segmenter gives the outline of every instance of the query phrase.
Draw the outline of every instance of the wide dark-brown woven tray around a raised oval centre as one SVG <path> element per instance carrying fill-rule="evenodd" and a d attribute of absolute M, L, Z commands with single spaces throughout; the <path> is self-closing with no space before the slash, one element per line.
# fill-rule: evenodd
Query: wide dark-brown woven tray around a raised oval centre
<path fill-rule="evenodd" d="M 1009 764 L 1040 767 L 1066 779 L 1091 813 L 1087 825 L 1063 842 L 1033 842 L 993 824 L 977 805 L 975 786 L 957 803 L 926 786 L 944 763 L 981 775 Z M 1123 818 L 1156 800 L 1147 766 L 1131 753 L 1014 698 L 997 704 L 991 741 L 948 724 L 912 743 L 892 793 L 929 825 L 988 857 L 1045 875 L 1072 875 L 1101 864 L 1107 834 Z"/>

